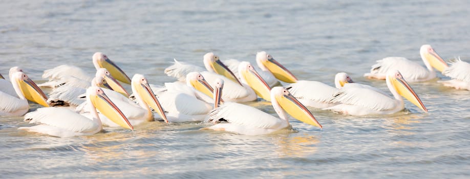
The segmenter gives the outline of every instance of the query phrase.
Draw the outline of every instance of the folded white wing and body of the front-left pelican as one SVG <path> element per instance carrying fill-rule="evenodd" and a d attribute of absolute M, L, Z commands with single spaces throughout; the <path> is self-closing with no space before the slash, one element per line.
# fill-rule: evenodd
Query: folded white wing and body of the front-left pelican
<path fill-rule="evenodd" d="M 73 132 L 91 132 L 99 126 L 91 119 L 75 113 L 65 107 L 38 108 L 25 115 L 25 121 L 30 124 L 46 124 Z"/>

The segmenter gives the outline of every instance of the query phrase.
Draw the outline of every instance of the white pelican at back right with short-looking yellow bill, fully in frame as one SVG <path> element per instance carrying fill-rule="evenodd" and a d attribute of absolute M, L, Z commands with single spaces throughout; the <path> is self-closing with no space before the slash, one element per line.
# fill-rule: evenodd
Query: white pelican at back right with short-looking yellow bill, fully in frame
<path fill-rule="evenodd" d="M 387 57 L 377 60 L 377 63 L 372 65 L 371 73 L 366 73 L 364 76 L 383 80 L 388 71 L 399 70 L 405 80 L 420 82 L 436 78 L 436 71 L 433 68 L 440 72 L 447 68 L 447 64 L 429 44 L 421 46 L 419 53 L 427 69 L 403 57 Z"/>

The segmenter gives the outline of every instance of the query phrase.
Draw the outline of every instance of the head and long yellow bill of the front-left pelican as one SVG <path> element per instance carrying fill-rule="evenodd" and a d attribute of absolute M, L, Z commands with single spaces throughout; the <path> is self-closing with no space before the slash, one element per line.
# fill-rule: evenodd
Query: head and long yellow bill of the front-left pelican
<path fill-rule="evenodd" d="M 124 128 L 134 129 L 122 111 L 104 94 L 100 87 L 90 86 L 87 88 L 87 100 L 90 100 L 94 108 L 114 123 Z"/>

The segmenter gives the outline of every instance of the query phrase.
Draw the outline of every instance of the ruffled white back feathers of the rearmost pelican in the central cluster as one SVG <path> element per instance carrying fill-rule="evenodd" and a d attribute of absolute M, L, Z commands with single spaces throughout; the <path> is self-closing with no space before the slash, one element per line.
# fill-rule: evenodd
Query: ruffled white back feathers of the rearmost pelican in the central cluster
<path fill-rule="evenodd" d="M 180 62 L 176 59 L 174 60 L 174 64 L 168 66 L 168 68 L 165 69 L 165 74 L 177 78 L 178 81 L 186 81 L 186 75 L 188 73 L 205 71 L 205 69 L 201 68 L 200 66 L 186 62 Z"/>

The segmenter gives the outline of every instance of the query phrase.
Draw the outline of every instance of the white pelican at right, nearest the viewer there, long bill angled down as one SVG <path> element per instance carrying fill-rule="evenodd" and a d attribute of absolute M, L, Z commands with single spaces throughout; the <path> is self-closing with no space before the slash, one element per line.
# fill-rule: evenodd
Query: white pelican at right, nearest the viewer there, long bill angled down
<path fill-rule="evenodd" d="M 330 102 L 340 103 L 328 107 L 346 115 L 387 115 L 403 110 L 403 98 L 428 112 L 413 88 L 404 80 L 403 76 L 397 70 L 389 71 L 387 74 L 387 86 L 394 98 L 383 95 L 370 88 L 348 87 L 345 85 L 331 98 Z M 401 95 L 401 96 L 400 96 Z"/>

